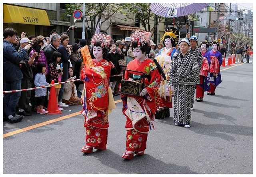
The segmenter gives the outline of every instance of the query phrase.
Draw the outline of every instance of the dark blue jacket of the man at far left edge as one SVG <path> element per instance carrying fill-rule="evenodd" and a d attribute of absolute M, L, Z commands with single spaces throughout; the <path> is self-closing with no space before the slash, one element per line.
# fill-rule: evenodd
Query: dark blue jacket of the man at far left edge
<path fill-rule="evenodd" d="M 13 82 L 23 78 L 20 61 L 22 61 L 27 52 L 27 49 L 22 49 L 18 53 L 12 43 L 6 40 L 3 41 L 3 71 L 5 81 Z"/>

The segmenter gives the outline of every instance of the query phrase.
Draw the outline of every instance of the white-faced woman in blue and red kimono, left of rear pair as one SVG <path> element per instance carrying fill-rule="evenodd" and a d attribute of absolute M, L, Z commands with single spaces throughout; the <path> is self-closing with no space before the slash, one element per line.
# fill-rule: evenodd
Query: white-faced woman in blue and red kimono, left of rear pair
<path fill-rule="evenodd" d="M 210 90 L 210 64 L 211 64 L 211 56 L 210 53 L 207 52 L 209 48 L 209 43 L 207 40 L 202 41 L 200 48 L 202 50 L 202 55 L 204 60 L 202 62 L 201 71 L 199 73 L 200 84 L 196 85 L 196 101 L 201 102 L 204 98 L 204 92 Z"/>

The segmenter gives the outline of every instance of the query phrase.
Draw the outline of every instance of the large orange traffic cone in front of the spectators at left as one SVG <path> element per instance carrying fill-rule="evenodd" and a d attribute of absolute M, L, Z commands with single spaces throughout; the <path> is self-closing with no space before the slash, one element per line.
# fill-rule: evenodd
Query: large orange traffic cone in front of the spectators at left
<path fill-rule="evenodd" d="M 48 100 L 47 114 L 62 114 L 60 110 L 58 110 L 57 100 L 56 100 L 56 92 L 54 87 L 54 81 L 52 80 L 52 87 L 50 88 L 50 96 Z"/>

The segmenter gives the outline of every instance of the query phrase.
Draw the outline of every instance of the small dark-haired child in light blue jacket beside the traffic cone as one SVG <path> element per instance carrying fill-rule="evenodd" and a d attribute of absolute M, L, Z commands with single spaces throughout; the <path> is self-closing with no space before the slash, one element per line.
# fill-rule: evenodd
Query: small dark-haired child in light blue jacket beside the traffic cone
<path fill-rule="evenodd" d="M 37 104 L 36 112 L 38 114 L 46 114 L 48 111 L 44 110 L 44 102 L 46 97 L 46 85 L 51 85 L 46 82 L 44 73 L 46 72 L 46 65 L 44 63 L 38 63 L 36 65 L 37 74 L 35 75 L 34 84 L 36 87 L 42 87 L 41 89 L 35 90 L 35 98 Z M 51 85 L 52 86 L 52 85 Z"/>

